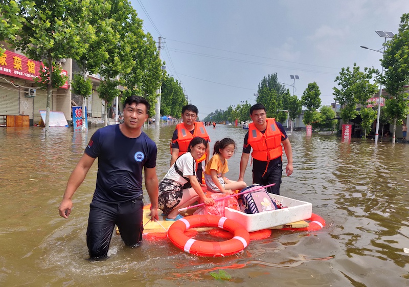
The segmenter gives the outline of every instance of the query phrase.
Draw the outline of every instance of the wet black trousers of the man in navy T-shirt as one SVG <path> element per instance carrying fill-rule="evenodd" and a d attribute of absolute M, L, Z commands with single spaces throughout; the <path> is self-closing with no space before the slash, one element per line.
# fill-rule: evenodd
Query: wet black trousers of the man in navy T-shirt
<path fill-rule="evenodd" d="M 121 204 L 92 202 L 89 207 L 86 245 L 92 259 L 106 257 L 115 225 L 118 226 L 122 240 L 127 246 L 137 247 L 143 233 L 142 199 Z"/>

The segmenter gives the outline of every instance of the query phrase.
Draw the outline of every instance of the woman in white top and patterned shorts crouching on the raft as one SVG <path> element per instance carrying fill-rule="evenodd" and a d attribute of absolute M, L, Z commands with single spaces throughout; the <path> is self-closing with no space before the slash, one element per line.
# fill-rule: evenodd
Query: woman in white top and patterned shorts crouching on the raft
<path fill-rule="evenodd" d="M 180 219 L 183 216 L 178 214 L 178 209 L 198 200 L 206 205 L 214 204 L 212 198 L 206 197 L 196 178 L 196 161 L 203 156 L 207 145 L 205 139 L 195 137 L 188 151 L 175 161 L 159 184 L 158 208 L 167 215 L 166 220 Z M 186 183 L 192 187 L 184 189 Z"/>

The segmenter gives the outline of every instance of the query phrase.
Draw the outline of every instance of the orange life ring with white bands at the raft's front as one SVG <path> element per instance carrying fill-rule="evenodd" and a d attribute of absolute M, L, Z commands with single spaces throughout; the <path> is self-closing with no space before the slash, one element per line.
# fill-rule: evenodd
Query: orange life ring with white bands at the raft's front
<path fill-rule="evenodd" d="M 185 235 L 187 229 L 203 226 L 228 230 L 234 233 L 234 237 L 221 242 L 207 242 Z M 168 237 L 177 248 L 187 253 L 210 257 L 235 254 L 246 248 L 250 242 L 250 235 L 244 226 L 233 219 L 210 214 L 191 215 L 180 218 L 169 227 Z"/>

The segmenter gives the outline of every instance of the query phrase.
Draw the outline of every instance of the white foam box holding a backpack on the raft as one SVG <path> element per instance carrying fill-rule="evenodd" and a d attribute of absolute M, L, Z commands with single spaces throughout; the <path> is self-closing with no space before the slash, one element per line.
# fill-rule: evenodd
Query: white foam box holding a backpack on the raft
<path fill-rule="evenodd" d="M 247 214 L 240 210 L 225 207 L 224 216 L 239 222 L 248 232 L 268 229 L 311 218 L 311 203 L 276 194 L 270 194 L 270 197 L 280 201 L 282 206 L 286 206 L 286 208 Z"/>

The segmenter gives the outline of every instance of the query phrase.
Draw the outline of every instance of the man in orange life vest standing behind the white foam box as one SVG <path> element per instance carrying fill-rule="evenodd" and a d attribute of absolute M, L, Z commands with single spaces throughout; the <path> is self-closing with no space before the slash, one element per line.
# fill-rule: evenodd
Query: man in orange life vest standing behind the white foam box
<path fill-rule="evenodd" d="M 280 194 L 282 168 L 282 154 L 284 146 L 287 156 L 285 172 L 291 175 L 292 150 L 284 127 L 275 119 L 266 118 L 265 107 L 255 104 L 250 108 L 250 117 L 253 123 L 248 125 L 248 132 L 244 137 L 243 153 L 240 160 L 240 175 L 238 181 L 243 181 L 248 158 L 253 148 L 253 183 L 268 185 L 275 183 L 267 189 L 268 192 Z"/>

